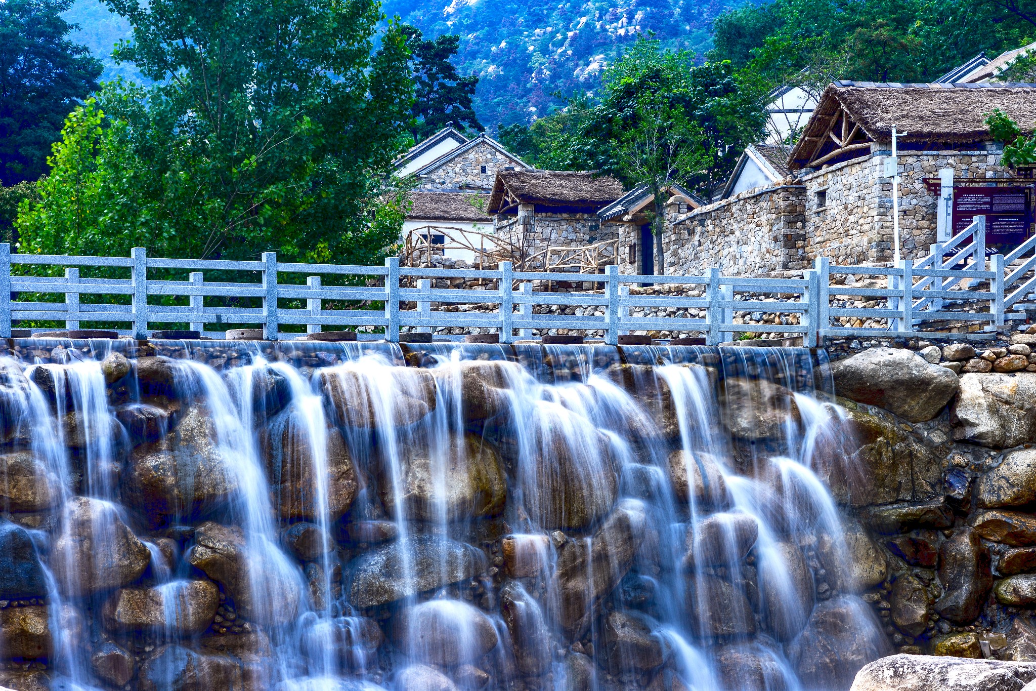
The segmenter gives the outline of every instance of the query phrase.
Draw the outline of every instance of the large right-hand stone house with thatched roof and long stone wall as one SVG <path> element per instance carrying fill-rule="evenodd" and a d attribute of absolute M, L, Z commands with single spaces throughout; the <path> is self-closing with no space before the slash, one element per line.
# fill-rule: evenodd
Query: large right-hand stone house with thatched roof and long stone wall
<path fill-rule="evenodd" d="M 1002 147 L 985 124 L 994 108 L 1032 133 L 1036 85 L 831 84 L 790 151 L 786 176 L 667 217 L 665 272 L 799 270 L 818 256 L 837 264 L 891 261 L 892 180 L 884 164 L 893 125 L 904 133 L 898 139 L 902 256 L 924 256 L 938 239 L 941 170 L 952 171 L 958 186 L 1025 186 L 1032 201 L 1034 180 L 1000 165 Z"/>

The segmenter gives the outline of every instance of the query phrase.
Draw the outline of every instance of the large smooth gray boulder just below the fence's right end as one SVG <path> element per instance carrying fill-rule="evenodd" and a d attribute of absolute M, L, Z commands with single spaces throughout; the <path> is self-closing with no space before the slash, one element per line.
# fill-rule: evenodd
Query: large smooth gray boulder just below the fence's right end
<path fill-rule="evenodd" d="M 832 365 L 835 391 L 912 423 L 939 414 L 957 391 L 957 375 L 904 348 L 870 348 Z"/>

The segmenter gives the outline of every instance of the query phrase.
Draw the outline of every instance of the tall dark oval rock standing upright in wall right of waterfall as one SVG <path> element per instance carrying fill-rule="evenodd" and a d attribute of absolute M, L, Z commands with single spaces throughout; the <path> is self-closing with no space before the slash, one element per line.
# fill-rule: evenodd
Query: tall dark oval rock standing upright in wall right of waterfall
<path fill-rule="evenodd" d="M 944 594 L 936 602 L 936 611 L 953 624 L 974 621 L 992 588 L 989 554 L 978 531 L 954 530 L 940 548 L 938 573 Z"/>

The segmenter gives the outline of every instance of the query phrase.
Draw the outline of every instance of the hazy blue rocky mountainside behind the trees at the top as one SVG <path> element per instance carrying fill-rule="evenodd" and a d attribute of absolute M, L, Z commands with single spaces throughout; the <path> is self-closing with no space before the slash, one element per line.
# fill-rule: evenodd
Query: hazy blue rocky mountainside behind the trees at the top
<path fill-rule="evenodd" d="M 479 75 L 476 111 L 487 127 L 546 115 L 579 90 L 593 91 L 601 71 L 637 33 L 701 55 L 710 25 L 738 0 L 386 0 L 387 17 L 426 37 L 456 33 L 462 74 Z M 80 25 L 75 39 L 104 60 L 103 79 L 140 79 L 132 65 L 111 59 L 128 24 L 99 0 L 77 0 L 65 19 Z"/>

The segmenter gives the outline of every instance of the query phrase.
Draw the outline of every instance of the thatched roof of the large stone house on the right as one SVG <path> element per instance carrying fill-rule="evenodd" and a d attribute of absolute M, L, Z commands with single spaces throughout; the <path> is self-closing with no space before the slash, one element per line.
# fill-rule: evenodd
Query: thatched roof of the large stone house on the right
<path fill-rule="evenodd" d="M 875 84 L 835 82 L 792 150 L 788 163 L 801 168 L 840 109 L 870 140 L 888 142 L 892 126 L 909 133 L 902 142 L 975 142 L 988 138 L 985 118 L 999 108 L 1023 132 L 1036 128 L 1036 84 Z"/>

